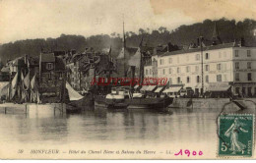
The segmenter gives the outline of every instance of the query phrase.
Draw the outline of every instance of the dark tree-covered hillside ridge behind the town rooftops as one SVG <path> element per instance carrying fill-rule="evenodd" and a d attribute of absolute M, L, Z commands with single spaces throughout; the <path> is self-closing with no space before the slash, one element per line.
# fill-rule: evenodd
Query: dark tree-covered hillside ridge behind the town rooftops
<path fill-rule="evenodd" d="M 127 31 L 125 33 L 126 45 L 138 47 L 142 36 L 149 46 L 158 46 L 168 42 L 182 46 L 189 45 L 191 42 L 196 43 L 196 38 L 200 35 L 211 40 L 215 23 L 217 23 L 220 37 L 224 42 L 244 37 L 246 45 L 256 46 L 256 37 L 253 35 L 256 21 L 245 19 L 235 22 L 224 18 L 215 21 L 205 20 L 202 23 L 189 26 L 183 25 L 171 30 L 171 32 L 166 27 L 153 29 L 151 33 L 149 28 L 139 28 L 139 34 L 134 31 Z M 78 52 L 83 52 L 86 47 L 93 47 L 96 51 L 101 51 L 102 48 L 109 48 L 110 46 L 113 49 L 113 56 L 116 56 L 123 46 L 122 37 L 122 34 L 113 32 L 110 35 L 97 34 L 87 38 L 83 35 L 61 34 L 57 38 L 18 40 L 0 45 L 0 57 L 1 61 L 5 63 L 8 59 L 19 56 L 36 56 L 41 49 L 44 51 L 76 49 Z"/>

